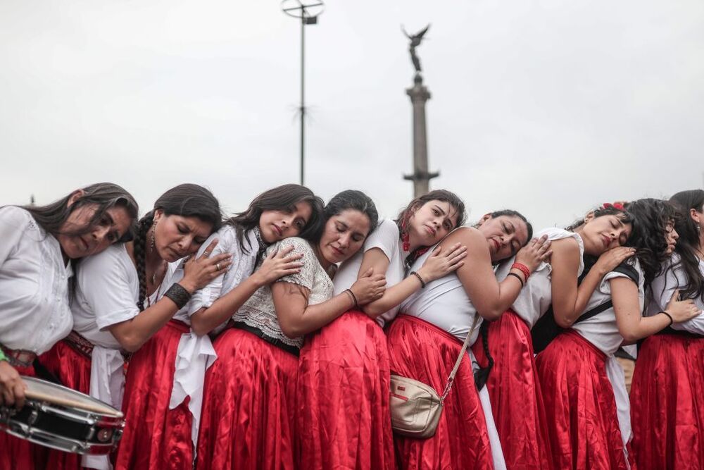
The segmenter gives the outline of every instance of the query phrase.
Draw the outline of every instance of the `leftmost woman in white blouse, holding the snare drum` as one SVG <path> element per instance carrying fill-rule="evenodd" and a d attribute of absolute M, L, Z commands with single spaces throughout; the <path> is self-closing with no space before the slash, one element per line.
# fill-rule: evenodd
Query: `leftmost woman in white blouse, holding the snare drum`
<path fill-rule="evenodd" d="M 0 208 L 0 405 L 23 407 L 37 354 L 68 335 L 69 280 L 78 259 L 129 237 L 137 202 L 98 183 L 46 206 Z M 0 469 L 32 468 L 39 448 L 0 433 Z"/>

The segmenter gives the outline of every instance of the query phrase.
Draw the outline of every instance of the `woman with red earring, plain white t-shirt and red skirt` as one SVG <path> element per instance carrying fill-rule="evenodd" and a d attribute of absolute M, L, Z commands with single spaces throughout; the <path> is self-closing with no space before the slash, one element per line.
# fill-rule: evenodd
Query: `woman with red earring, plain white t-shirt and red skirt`
<path fill-rule="evenodd" d="M 398 305 L 421 288 L 415 276 L 403 279 L 406 257 L 435 245 L 464 218 L 459 197 L 431 191 L 413 199 L 396 222 L 379 223 L 364 249 L 337 271 L 335 294 L 370 268 L 385 273 L 391 287 L 306 338 L 298 366 L 299 468 L 395 468 L 389 353 L 382 328 L 394 319 Z M 459 245 L 436 250 L 418 275 L 426 283 L 444 276 L 461 266 L 464 251 Z"/>

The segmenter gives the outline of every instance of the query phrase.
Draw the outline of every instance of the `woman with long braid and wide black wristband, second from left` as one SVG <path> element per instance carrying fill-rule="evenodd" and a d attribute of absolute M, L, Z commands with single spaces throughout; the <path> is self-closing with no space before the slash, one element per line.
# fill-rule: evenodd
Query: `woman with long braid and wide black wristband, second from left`
<path fill-rule="evenodd" d="M 142 218 L 133 242 L 115 245 L 85 259 L 77 270 L 71 309 L 74 329 L 65 341 L 42 357 L 47 369 L 66 385 L 120 407 L 124 383 L 122 353 L 137 351 L 183 307 L 191 292 L 227 268 L 226 256 L 204 256 L 187 266 L 187 273 L 177 285 L 172 285 L 175 280 L 168 271 L 168 262 L 194 253 L 219 223 L 218 202 L 208 190 L 180 185 L 165 192 L 153 211 Z M 163 328 L 160 333 L 176 328 Z M 135 358 L 139 359 L 138 355 Z M 160 361 L 165 364 L 166 359 Z M 160 369 L 167 374 L 169 368 L 163 364 Z M 135 376 L 139 373 L 139 361 L 132 372 Z M 153 375 L 148 380 L 156 386 L 157 377 Z M 139 378 L 133 379 L 132 384 L 137 381 Z M 126 403 L 136 409 L 146 400 L 147 394 L 139 392 L 139 397 Z M 141 426 L 140 432 L 149 432 L 144 428 L 146 419 L 133 417 L 132 407 L 127 408 L 126 431 L 132 433 Z M 56 468 L 81 465 L 80 459 L 63 452 L 56 452 L 51 458 L 55 458 L 52 464 Z M 105 458 L 89 457 L 83 465 L 107 468 L 108 462 Z"/>

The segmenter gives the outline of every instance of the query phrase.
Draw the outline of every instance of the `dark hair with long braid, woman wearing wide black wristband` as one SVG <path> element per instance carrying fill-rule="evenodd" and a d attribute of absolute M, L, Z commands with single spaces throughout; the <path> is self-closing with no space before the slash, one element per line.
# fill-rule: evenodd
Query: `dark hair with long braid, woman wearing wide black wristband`
<path fill-rule="evenodd" d="M 139 299 L 137 307 L 144 310 L 144 299 L 146 299 L 146 237 L 149 228 L 154 223 L 154 211 L 161 209 L 165 216 L 196 217 L 201 221 L 213 226 L 211 233 L 222 226 L 222 212 L 220 203 L 215 199 L 213 193 L 206 188 L 184 184 L 172 187 L 161 194 L 154 203 L 154 209 L 144 214 L 139 220 L 137 234 L 134 237 L 134 261 L 137 264 L 137 276 L 139 278 Z"/>

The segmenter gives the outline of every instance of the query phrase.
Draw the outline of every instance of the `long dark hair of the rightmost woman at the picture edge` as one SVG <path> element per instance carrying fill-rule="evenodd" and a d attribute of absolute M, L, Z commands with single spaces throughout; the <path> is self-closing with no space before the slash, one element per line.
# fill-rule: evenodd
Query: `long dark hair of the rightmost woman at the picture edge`
<path fill-rule="evenodd" d="M 690 211 L 702 213 L 704 206 L 704 191 L 689 190 L 681 191 L 670 198 L 670 202 L 679 210 L 681 217 L 674 223 L 674 230 L 677 230 L 679 239 L 674 251 L 679 254 L 677 264 L 670 266 L 670 269 L 681 267 L 687 278 L 686 285 L 677 286 L 682 298 L 695 299 L 704 298 L 704 278 L 699 269 L 699 225 L 691 218 Z"/>

